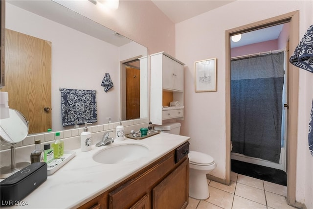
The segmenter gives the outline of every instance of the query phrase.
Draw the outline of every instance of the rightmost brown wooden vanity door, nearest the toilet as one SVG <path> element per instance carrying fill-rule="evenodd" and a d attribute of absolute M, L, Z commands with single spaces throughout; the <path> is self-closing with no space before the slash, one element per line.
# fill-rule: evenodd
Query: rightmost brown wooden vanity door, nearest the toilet
<path fill-rule="evenodd" d="M 188 158 L 152 190 L 153 209 L 185 209 L 189 197 Z"/>

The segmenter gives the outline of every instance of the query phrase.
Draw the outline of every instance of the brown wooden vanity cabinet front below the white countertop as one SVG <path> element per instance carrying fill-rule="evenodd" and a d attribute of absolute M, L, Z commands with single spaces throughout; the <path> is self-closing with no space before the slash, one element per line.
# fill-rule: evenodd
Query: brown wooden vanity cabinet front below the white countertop
<path fill-rule="evenodd" d="M 185 145 L 189 147 L 189 142 Z M 80 209 L 186 208 L 189 197 L 188 153 L 177 162 L 178 151 L 179 148 L 171 151 Z"/>

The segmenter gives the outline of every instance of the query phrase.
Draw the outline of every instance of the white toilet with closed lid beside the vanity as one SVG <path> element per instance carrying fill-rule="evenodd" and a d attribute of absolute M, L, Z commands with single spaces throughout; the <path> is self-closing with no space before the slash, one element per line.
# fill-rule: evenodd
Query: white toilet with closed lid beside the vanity
<path fill-rule="evenodd" d="M 156 125 L 155 130 L 179 135 L 180 123 L 169 122 Z M 194 199 L 205 200 L 209 198 L 209 187 L 206 174 L 216 168 L 214 159 L 201 152 L 189 151 L 189 196 Z"/>

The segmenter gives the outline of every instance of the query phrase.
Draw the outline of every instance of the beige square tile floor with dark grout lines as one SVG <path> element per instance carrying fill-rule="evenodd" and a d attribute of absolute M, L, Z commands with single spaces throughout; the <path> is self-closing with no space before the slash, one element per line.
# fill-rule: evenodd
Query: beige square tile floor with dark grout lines
<path fill-rule="evenodd" d="M 210 197 L 189 197 L 187 209 L 294 209 L 287 205 L 287 187 L 231 172 L 229 186 L 207 180 Z"/>

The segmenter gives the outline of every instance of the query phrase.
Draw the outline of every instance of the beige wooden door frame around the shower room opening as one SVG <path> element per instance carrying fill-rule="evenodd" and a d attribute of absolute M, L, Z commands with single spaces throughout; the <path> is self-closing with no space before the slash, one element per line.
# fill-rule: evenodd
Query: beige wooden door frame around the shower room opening
<path fill-rule="evenodd" d="M 246 24 L 225 31 L 225 116 L 226 116 L 226 184 L 230 184 L 230 36 L 261 29 L 274 24 L 290 23 L 289 46 L 293 50 L 299 43 L 299 11 L 293 11 L 263 21 Z M 287 110 L 287 203 L 295 206 L 298 84 L 299 69 L 288 62 L 288 103 Z"/>

